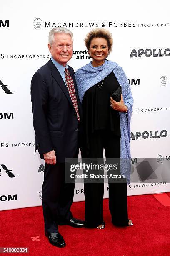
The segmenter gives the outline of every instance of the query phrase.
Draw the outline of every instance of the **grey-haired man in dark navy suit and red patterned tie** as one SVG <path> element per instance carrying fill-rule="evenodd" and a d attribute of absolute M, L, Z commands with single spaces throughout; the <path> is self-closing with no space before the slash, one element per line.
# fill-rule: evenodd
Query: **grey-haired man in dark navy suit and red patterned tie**
<path fill-rule="evenodd" d="M 70 211 L 75 184 L 65 183 L 65 159 L 77 158 L 80 146 L 81 106 L 72 57 L 73 34 L 53 28 L 48 48 L 51 59 L 37 70 L 31 81 L 35 150 L 45 159 L 42 207 L 45 234 L 55 246 L 65 246 L 57 225 L 83 227 Z"/>

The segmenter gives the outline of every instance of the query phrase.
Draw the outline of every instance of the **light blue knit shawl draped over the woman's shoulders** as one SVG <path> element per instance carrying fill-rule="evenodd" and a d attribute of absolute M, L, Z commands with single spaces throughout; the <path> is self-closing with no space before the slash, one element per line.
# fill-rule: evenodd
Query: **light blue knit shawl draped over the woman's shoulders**
<path fill-rule="evenodd" d="M 75 72 L 75 80 L 77 83 L 78 94 L 82 102 L 85 92 L 93 85 L 107 77 L 110 72 L 115 74 L 118 83 L 122 86 L 123 100 L 128 107 L 128 113 L 119 112 L 120 114 L 120 173 L 125 175 L 127 184 L 130 184 L 130 119 L 133 108 L 133 97 L 130 90 L 128 79 L 123 69 L 115 62 L 106 61 L 99 67 L 93 67 L 91 62 L 77 69 Z"/>

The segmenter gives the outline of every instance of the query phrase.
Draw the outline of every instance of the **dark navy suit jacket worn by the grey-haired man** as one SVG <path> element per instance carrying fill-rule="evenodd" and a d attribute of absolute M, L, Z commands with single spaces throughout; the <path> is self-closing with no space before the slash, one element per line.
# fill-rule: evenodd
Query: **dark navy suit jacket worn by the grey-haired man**
<path fill-rule="evenodd" d="M 68 66 L 75 86 L 82 120 L 74 70 Z M 78 121 L 67 87 L 52 61 L 37 70 L 31 81 L 31 101 L 35 130 L 35 151 L 40 156 L 55 150 L 56 160 L 65 162 L 77 151 Z M 80 126 L 80 125 L 79 125 Z"/>

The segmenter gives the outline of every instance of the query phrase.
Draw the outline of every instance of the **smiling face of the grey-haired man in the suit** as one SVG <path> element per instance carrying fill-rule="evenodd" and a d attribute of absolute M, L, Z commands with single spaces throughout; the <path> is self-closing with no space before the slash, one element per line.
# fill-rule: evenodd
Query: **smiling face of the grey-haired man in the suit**
<path fill-rule="evenodd" d="M 52 45 L 48 44 L 52 57 L 62 66 L 72 57 L 72 39 L 69 34 L 55 33 Z"/>

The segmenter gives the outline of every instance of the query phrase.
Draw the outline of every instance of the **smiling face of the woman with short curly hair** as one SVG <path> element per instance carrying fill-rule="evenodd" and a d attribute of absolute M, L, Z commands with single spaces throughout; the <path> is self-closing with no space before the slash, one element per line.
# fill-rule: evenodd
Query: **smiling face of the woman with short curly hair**
<path fill-rule="evenodd" d="M 89 54 L 95 62 L 104 62 L 109 50 L 107 40 L 105 38 L 92 38 L 89 48 Z"/>

